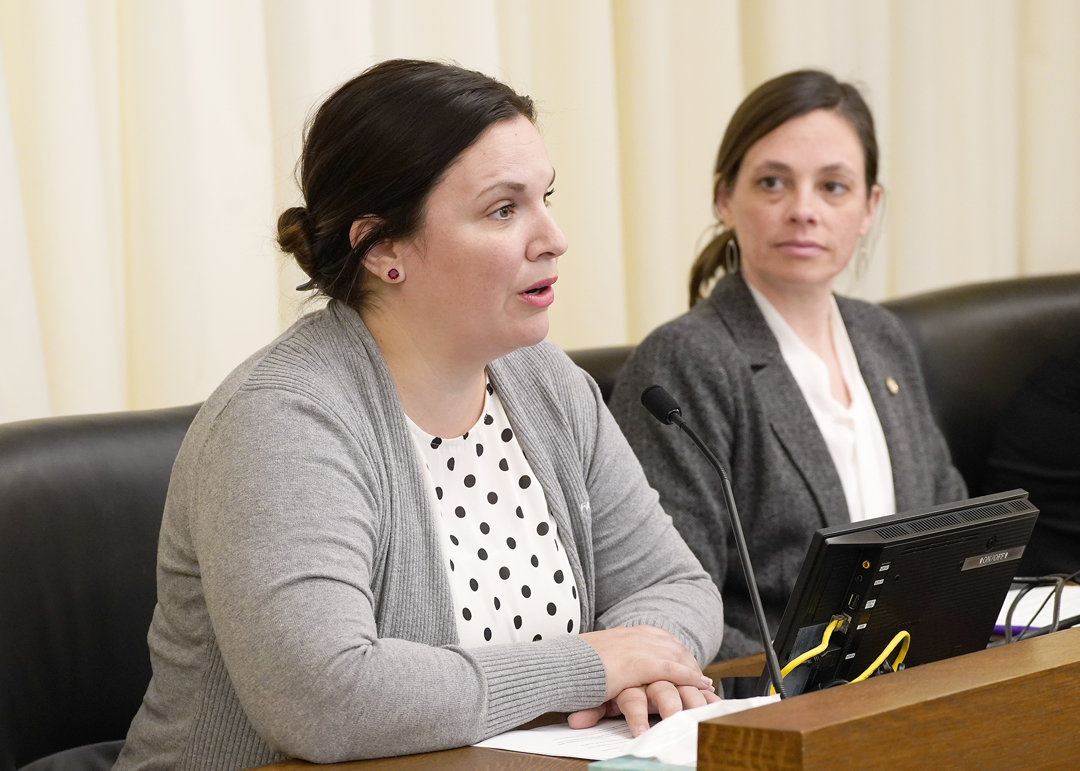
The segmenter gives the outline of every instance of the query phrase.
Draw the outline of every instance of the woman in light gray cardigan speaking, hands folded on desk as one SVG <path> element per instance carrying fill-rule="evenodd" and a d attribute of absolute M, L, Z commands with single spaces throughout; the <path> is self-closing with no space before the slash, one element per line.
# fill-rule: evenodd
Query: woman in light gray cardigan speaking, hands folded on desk
<path fill-rule="evenodd" d="M 242 769 L 715 701 L 719 593 L 543 342 L 566 241 L 532 103 L 386 62 L 319 109 L 279 242 L 324 310 L 173 471 L 153 679 L 117 769 Z"/>

